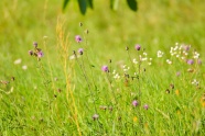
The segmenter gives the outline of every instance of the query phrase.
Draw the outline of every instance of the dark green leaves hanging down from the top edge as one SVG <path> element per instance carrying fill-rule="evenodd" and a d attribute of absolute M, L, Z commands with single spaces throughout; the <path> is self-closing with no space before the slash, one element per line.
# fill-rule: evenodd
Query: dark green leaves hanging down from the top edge
<path fill-rule="evenodd" d="M 65 10 L 66 5 L 68 4 L 69 0 L 64 0 L 63 2 L 63 10 Z M 137 0 L 127 0 L 129 8 L 132 11 L 138 10 L 138 2 Z M 110 9 L 117 10 L 119 4 L 119 0 L 110 0 Z M 86 13 L 87 7 L 94 9 L 93 0 L 78 0 L 78 7 L 82 14 Z"/>

